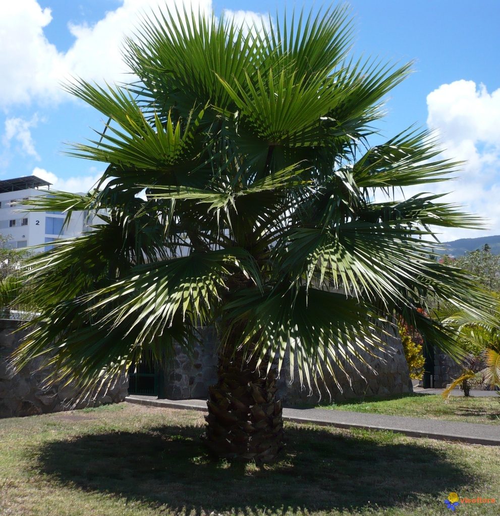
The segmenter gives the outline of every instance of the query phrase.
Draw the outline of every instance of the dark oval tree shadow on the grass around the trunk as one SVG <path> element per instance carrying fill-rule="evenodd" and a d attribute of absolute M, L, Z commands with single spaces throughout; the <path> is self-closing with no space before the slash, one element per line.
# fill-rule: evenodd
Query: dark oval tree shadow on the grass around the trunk
<path fill-rule="evenodd" d="M 440 492 L 472 483 L 465 467 L 439 449 L 398 442 L 389 432 L 342 436 L 317 427 L 288 428 L 282 460 L 258 468 L 210 460 L 200 431 L 162 426 L 53 441 L 37 450 L 33 467 L 62 485 L 166 505 L 181 514 L 394 507 L 423 495 L 440 503 Z"/>

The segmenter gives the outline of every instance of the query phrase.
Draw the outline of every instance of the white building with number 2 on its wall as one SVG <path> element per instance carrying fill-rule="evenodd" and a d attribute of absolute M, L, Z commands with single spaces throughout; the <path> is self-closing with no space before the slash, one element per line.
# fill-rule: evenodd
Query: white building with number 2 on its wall
<path fill-rule="evenodd" d="M 50 186 L 35 175 L 0 181 L 0 234 L 8 238 L 6 247 L 47 244 L 39 248 L 41 252 L 51 249 L 54 240 L 79 236 L 87 230 L 91 222 L 86 212 L 73 213 L 68 227 L 63 228 L 66 215 L 61 212 L 23 211 L 19 203 L 27 203 L 30 197 L 50 195 Z"/>

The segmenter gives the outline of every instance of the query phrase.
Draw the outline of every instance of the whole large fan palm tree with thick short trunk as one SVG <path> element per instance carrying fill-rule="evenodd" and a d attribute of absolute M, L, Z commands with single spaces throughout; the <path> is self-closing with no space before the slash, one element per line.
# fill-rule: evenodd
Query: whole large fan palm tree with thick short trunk
<path fill-rule="evenodd" d="M 354 61 L 351 33 L 345 7 L 251 27 L 166 11 L 126 41 L 136 82 L 68 86 L 109 119 L 69 154 L 108 165 L 99 190 L 52 192 L 34 209 L 106 223 L 29 262 L 25 302 L 40 316 L 17 365 L 45 353 L 53 380 L 90 389 L 145 350 L 190 352 L 215 326 L 205 440 L 217 456 L 265 462 L 283 442 L 286 354 L 303 384 L 337 377 L 385 349 L 394 316 L 457 351 L 422 300 L 478 317 L 491 300 L 437 263 L 430 224 L 478 221 L 440 196 L 392 196 L 457 164 L 426 132 L 368 145 L 410 65 Z"/>

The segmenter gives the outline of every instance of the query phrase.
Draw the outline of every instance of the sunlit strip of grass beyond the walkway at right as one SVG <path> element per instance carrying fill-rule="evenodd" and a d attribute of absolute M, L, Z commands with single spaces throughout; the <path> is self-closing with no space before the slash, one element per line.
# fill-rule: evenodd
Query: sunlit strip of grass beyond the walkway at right
<path fill-rule="evenodd" d="M 318 408 L 500 426 L 500 396 L 477 398 L 450 396 L 445 403 L 439 395 L 407 394 L 390 398 L 370 397 L 360 401 L 325 404 Z M 498 431 L 500 432 L 500 429 Z M 500 514 L 500 510 L 498 513 Z"/>

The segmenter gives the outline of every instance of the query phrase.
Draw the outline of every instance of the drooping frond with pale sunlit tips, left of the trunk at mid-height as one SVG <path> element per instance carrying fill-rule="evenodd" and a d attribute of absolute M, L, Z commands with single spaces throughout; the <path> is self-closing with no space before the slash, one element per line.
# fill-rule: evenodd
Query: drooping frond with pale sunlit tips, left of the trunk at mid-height
<path fill-rule="evenodd" d="M 142 327 L 138 338 L 151 340 L 178 312 L 183 320 L 190 318 L 193 326 L 213 320 L 231 268 L 261 287 L 252 256 L 232 248 L 134 267 L 127 278 L 89 294 L 86 300 L 94 303 L 90 312 L 106 309 L 104 320 L 113 326 L 130 324 L 132 318 L 132 327 Z"/>

